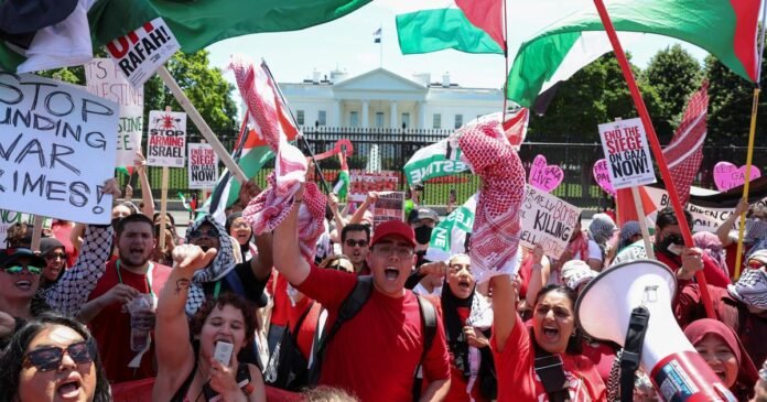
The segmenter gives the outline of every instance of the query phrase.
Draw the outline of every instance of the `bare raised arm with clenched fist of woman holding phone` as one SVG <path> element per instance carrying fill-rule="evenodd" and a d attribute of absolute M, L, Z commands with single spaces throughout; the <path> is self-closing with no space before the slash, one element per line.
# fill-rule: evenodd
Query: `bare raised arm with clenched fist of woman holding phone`
<path fill-rule="evenodd" d="M 190 326 L 186 323 L 184 305 L 192 275 L 198 269 L 207 267 L 216 257 L 216 249 L 203 252 L 203 249 L 193 245 L 182 245 L 173 249 L 175 268 L 160 292 L 154 329 L 156 382 L 168 385 L 163 388 L 177 389 L 194 366 L 195 356 L 192 343 L 188 341 Z M 158 388 L 155 387 L 155 400 Z"/>

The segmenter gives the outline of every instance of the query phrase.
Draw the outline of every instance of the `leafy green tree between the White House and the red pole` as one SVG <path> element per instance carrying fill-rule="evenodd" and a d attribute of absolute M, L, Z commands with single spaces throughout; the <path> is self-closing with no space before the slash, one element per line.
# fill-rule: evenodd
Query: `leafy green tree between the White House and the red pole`
<path fill-rule="evenodd" d="M 639 69 L 633 66 L 633 70 L 637 76 Z M 652 115 L 658 95 L 646 83 L 638 85 Z M 608 53 L 560 84 L 545 115 L 531 118 L 528 137 L 533 141 L 599 142 L 598 124 L 637 116 L 620 66 Z"/>

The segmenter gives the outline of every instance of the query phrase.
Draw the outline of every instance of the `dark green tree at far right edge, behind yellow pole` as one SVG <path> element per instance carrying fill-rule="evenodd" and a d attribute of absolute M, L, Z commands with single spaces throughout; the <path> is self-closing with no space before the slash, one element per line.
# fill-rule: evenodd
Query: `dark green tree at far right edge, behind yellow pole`
<path fill-rule="evenodd" d="M 761 65 L 765 65 L 764 57 Z M 767 74 L 763 69 L 760 77 L 763 83 L 766 76 Z M 705 58 L 705 77 L 710 83 L 706 143 L 746 146 L 748 144 L 755 84 L 735 75 L 714 56 Z M 755 138 L 764 139 L 767 135 L 765 126 L 767 123 L 767 99 L 765 97 L 759 97 L 757 110 Z M 758 142 L 757 145 L 759 145 Z"/>

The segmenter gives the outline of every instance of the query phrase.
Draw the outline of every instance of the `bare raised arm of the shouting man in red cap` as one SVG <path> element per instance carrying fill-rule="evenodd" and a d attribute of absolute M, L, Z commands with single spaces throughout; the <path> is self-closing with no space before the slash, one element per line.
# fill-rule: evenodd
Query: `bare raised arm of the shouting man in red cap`
<path fill-rule="evenodd" d="M 295 194 L 293 208 L 282 222 L 274 228 L 272 257 L 274 268 L 285 276 L 288 282 L 300 285 L 309 276 L 309 263 L 301 257 L 299 247 L 299 207 L 303 199 L 303 184 Z"/>

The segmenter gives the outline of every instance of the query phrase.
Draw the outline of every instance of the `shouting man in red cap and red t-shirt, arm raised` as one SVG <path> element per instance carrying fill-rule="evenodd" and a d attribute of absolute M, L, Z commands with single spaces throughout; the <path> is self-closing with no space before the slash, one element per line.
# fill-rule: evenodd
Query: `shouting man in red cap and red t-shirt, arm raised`
<path fill-rule="evenodd" d="M 302 191 L 293 209 L 274 229 L 274 265 L 299 291 L 322 303 L 333 326 L 338 308 L 357 283 L 357 275 L 318 269 L 301 258 L 298 210 Z M 441 401 L 450 389 L 450 360 L 442 318 L 436 335 L 423 354 L 424 335 L 417 296 L 404 289 L 415 256 L 413 230 L 391 220 L 376 228 L 370 242 L 368 265 L 372 291 L 361 309 L 344 323 L 327 345 L 320 384 L 342 388 L 361 401 L 410 401 L 414 373 L 423 365 L 429 383 L 421 401 Z"/>

